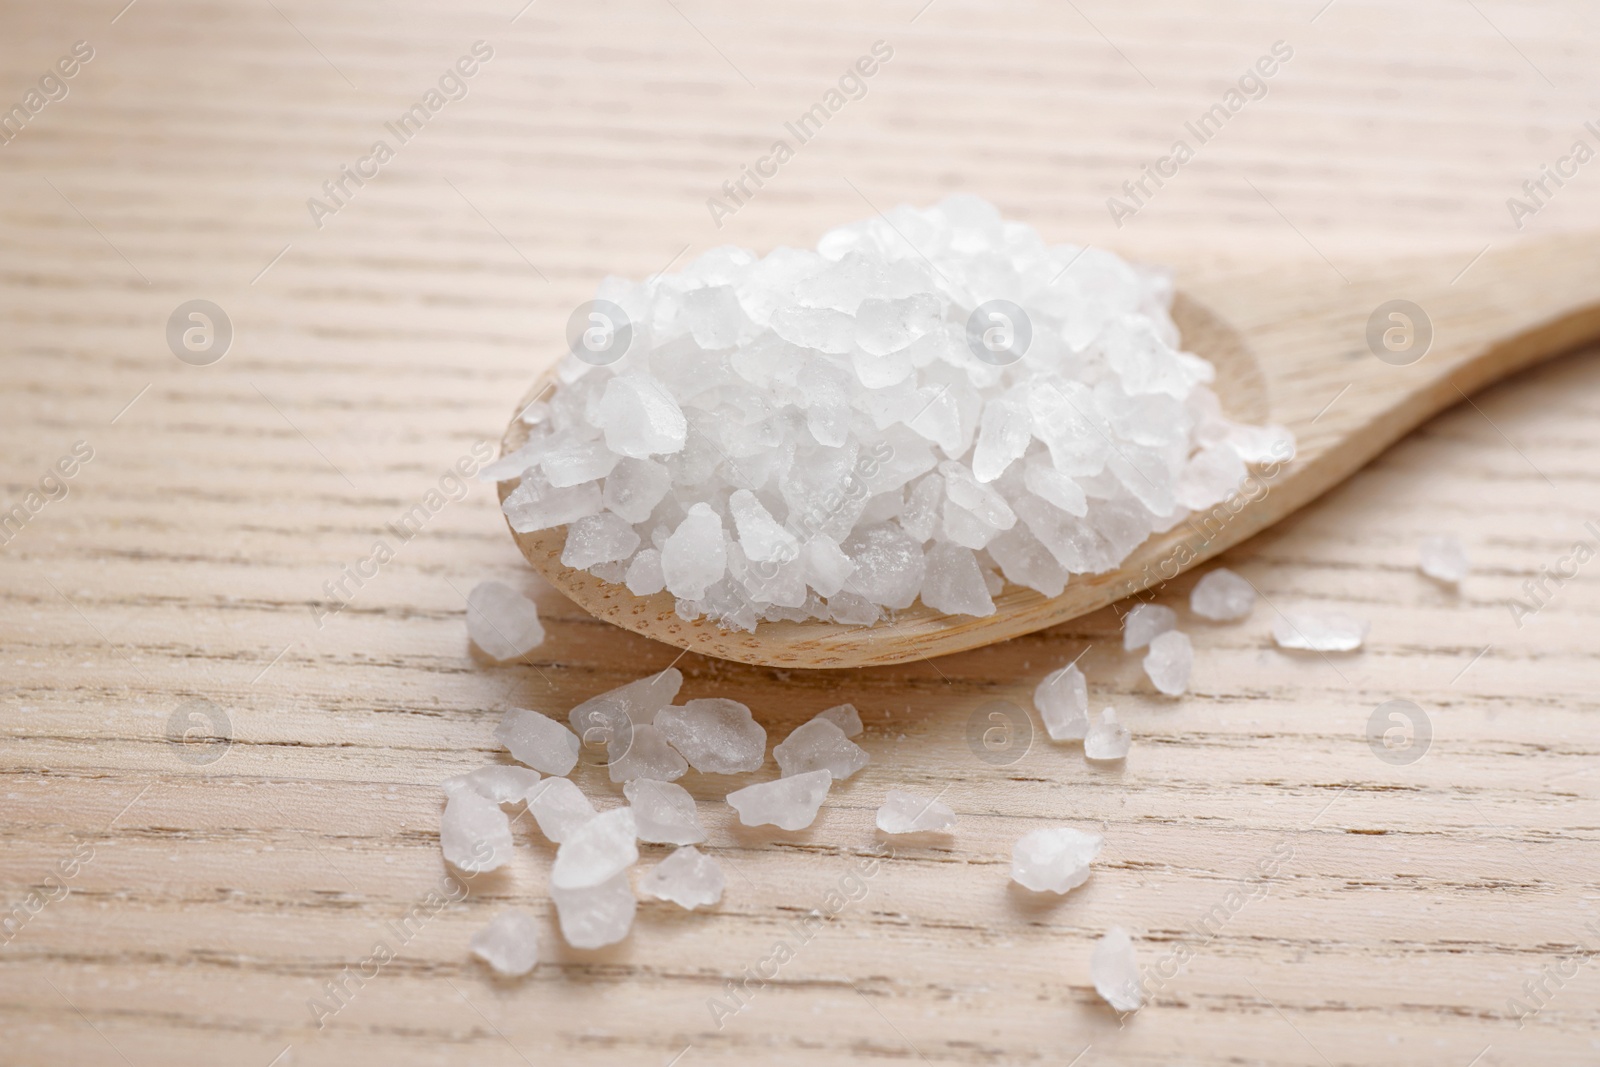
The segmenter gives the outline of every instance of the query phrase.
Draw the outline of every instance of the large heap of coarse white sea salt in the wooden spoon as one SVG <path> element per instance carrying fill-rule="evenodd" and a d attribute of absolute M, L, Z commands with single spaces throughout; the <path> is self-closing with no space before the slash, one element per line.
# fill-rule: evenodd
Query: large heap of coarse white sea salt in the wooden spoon
<path fill-rule="evenodd" d="M 974 197 L 597 298 L 482 477 L 515 483 L 514 530 L 565 526 L 563 563 L 685 619 L 870 624 L 918 597 L 981 616 L 1006 581 L 1054 597 L 1293 454 L 1222 416 L 1165 274 Z"/>

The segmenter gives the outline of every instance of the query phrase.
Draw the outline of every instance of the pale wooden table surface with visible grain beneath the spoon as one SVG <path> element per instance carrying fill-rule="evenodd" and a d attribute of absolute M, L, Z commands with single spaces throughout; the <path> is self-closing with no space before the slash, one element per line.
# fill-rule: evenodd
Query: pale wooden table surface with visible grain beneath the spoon
<path fill-rule="evenodd" d="M 1178 701 L 1115 611 L 934 662 L 766 670 L 586 617 L 490 486 L 414 539 L 386 526 L 498 440 L 603 274 L 720 243 L 810 245 L 950 190 L 1187 274 L 1469 269 L 1594 226 L 1595 162 L 1522 232 L 1507 206 L 1600 141 L 1594 5 L 122 3 L 0 6 L 0 106 L 93 48 L 0 144 L 0 502 L 27 518 L 0 549 L 0 1062 L 1600 1062 L 1600 561 L 1520 625 L 1509 606 L 1597 541 L 1594 354 L 1229 553 L 1274 606 L 1368 619 L 1363 651 L 1285 654 L 1266 606 L 1205 625 L 1187 579 L 1162 590 L 1197 646 Z M 718 227 L 707 198 L 878 40 L 866 94 Z M 1117 227 L 1107 197 L 1278 40 L 1266 96 Z M 398 142 L 386 123 L 474 42 L 493 54 L 466 98 Z M 379 139 L 394 158 L 314 219 Z M 168 347 L 190 299 L 232 323 L 221 362 Z M 1459 592 L 1416 573 L 1440 531 L 1472 555 Z M 318 625 L 323 584 L 379 539 L 394 558 Z M 544 613 L 526 662 L 467 648 L 464 593 L 491 577 Z M 974 718 L 1080 654 L 1134 731 L 1126 766 L 1021 733 L 979 758 Z M 429 902 L 437 785 L 496 758 L 507 707 L 560 715 L 674 661 L 686 697 L 744 701 L 774 741 L 853 701 L 872 765 L 800 833 L 741 829 L 726 782 L 686 779 L 725 901 L 643 904 L 606 950 L 562 945 L 526 819 L 507 870 Z M 1390 699 L 1430 739 L 1386 760 L 1368 725 Z M 208 713 L 230 742 L 186 744 Z M 578 781 L 618 803 L 597 768 Z M 957 832 L 870 865 L 890 787 L 942 790 Z M 1008 883 L 1011 841 L 1048 824 L 1107 840 L 1064 899 Z M 544 961 L 498 982 L 467 939 L 509 904 Z M 811 909 L 837 913 L 718 1025 L 712 1000 Z M 1112 925 L 1162 973 L 1122 1024 L 1088 976 Z M 394 958 L 330 1000 L 379 941 Z M 320 1027 L 318 998 L 339 1008 Z"/>

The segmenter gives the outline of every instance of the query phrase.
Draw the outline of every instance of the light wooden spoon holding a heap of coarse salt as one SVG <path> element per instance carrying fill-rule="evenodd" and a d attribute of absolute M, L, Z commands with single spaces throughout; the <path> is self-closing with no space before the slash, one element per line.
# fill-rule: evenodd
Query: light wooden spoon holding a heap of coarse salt
<path fill-rule="evenodd" d="M 1237 514 L 1224 507 L 1155 534 L 1114 571 L 1074 574 L 1059 597 L 1006 584 L 987 617 L 941 614 L 918 600 L 875 625 L 762 622 L 754 633 L 725 630 L 707 619 L 685 622 L 667 592 L 635 597 L 562 566 L 565 528 L 512 536 L 528 561 L 590 614 L 723 659 L 867 667 L 1003 641 L 1176 577 L 1322 496 L 1437 411 L 1600 338 L 1597 250 L 1594 237 L 1554 237 L 1491 250 L 1470 264 L 1464 254 L 1414 259 L 1349 278 L 1326 262 L 1181 277 L 1173 317 L 1184 347 L 1216 365 L 1214 389 L 1230 418 L 1294 432 L 1293 462 L 1261 472 L 1261 488 L 1248 493 L 1254 499 Z M 514 414 L 501 454 L 526 437 Z M 514 486 L 501 483 L 502 501 Z"/>

